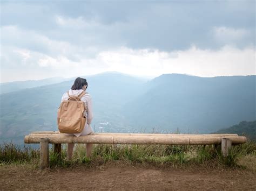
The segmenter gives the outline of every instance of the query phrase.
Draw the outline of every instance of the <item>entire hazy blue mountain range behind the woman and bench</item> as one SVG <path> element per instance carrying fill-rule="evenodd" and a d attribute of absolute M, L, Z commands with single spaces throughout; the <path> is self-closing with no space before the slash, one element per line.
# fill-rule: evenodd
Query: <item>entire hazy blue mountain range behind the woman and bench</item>
<path fill-rule="evenodd" d="M 85 78 L 98 132 L 210 133 L 256 119 L 255 75 L 163 74 L 147 80 L 109 72 Z M 57 130 L 57 108 L 72 83 L 38 83 L 1 94 L 1 140 L 22 143 L 31 131 Z"/>

